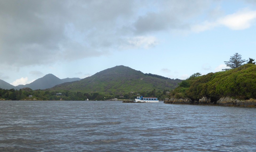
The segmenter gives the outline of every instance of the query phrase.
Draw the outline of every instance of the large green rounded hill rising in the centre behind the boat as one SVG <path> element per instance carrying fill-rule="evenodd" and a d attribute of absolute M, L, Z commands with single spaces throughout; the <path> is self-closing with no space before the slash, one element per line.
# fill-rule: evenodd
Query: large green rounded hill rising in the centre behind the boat
<path fill-rule="evenodd" d="M 171 90 L 178 86 L 182 80 L 160 78 L 159 75 L 144 74 L 141 71 L 131 69 L 123 65 L 115 66 L 100 71 L 90 77 L 80 81 L 63 83 L 50 90 L 55 91 L 81 91 L 85 93 L 102 93 L 102 94 L 125 94 L 139 93 L 158 90 Z"/>

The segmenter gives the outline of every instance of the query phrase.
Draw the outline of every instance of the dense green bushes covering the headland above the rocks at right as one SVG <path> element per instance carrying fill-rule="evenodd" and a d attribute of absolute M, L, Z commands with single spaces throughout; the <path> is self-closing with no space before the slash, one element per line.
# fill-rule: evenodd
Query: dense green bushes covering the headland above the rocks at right
<path fill-rule="evenodd" d="M 170 92 L 174 98 L 199 100 L 203 96 L 216 101 L 230 96 L 236 99 L 256 99 L 256 65 L 244 64 L 234 69 L 191 75 Z"/>

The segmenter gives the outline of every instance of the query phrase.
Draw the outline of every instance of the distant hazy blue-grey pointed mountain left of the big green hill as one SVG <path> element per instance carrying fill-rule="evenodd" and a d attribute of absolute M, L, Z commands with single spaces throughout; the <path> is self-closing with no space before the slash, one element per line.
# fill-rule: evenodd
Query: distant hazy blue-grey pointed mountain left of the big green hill
<path fill-rule="evenodd" d="M 32 90 L 47 89 L 47 88 L 51 88 L 51 87 L 61 84 L 61 83 L 71 82 L 71 81 L 79 81 L 79 80 L 81 80 L 81 79 L 80 78 L 60 79 L 53 74 L 46 74 L 42 78 L 39 78 L 29 84 L 18 85 L 17 87 L 19 87 L 19 88 L 27 87 L 27 88 L 31 88 Z"/>

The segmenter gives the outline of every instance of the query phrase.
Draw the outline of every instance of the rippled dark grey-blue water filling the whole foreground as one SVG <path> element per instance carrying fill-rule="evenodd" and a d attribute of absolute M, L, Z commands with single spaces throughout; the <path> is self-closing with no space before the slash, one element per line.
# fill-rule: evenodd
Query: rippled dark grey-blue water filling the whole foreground
<path fill-rule="evenodd" d="M 256 108 L 0 101 L 0 151 L 255 151 Z"/>

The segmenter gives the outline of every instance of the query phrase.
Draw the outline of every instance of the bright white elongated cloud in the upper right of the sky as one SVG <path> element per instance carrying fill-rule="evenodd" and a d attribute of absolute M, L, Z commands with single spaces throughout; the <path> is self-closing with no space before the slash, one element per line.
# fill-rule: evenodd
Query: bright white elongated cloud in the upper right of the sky
<path fill-rule="evenodd" d="M 231 30 L 243 30 L 250 28 L 256 21 L 256 11 L 241 10 L 234 14 L 223 16 L 214 22 L 204 21 L 202 24 L 194 25 L 191 30 L 202 32 L 219 26 L 225 26 Z"/>

